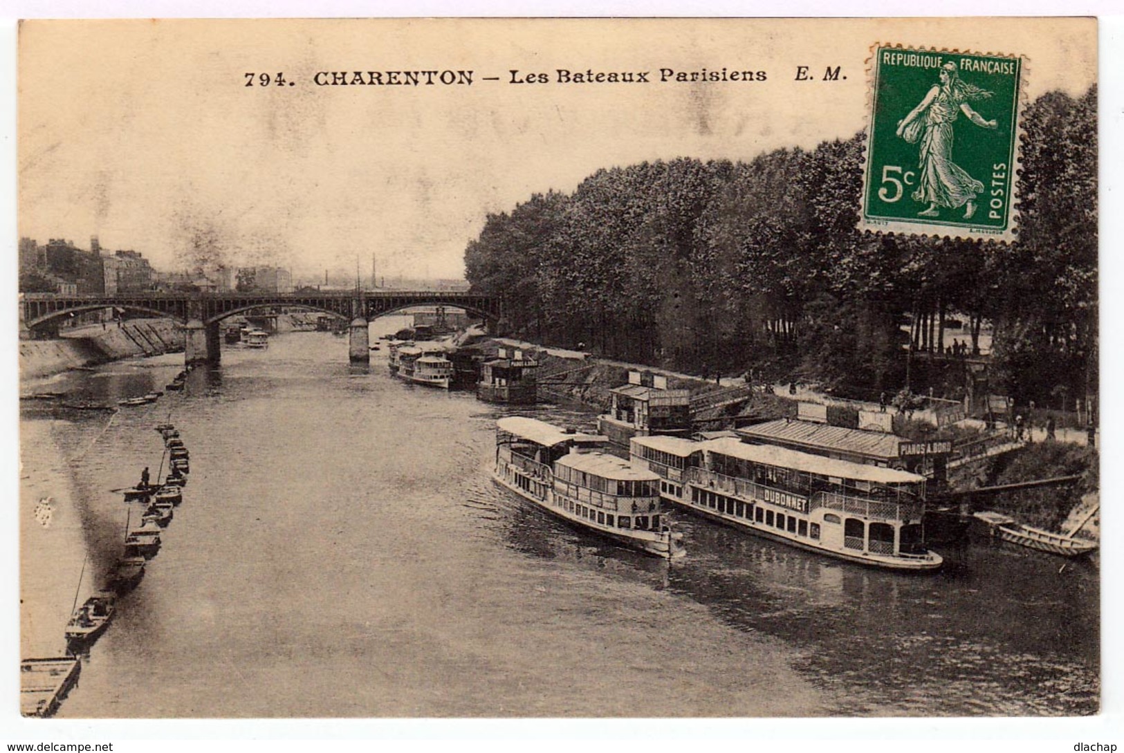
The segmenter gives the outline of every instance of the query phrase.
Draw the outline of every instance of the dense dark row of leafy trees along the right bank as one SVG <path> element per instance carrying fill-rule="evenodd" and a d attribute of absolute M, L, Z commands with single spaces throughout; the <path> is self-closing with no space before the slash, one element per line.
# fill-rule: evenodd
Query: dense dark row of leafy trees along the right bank
<path fill-rule="evenodd" d="M 907 345 L 940 354 L 957 315 L 970 347 L 992 326 L 995 389 L 1080 396 L 1096 390 L 1096 90 L 1043 96 L 1024 130 L 1010 245 L 856 232 L 859 135 L 600 170 L 490 215 L 468 278 L 546 344 L 872 391 L 903 384 Z"/>

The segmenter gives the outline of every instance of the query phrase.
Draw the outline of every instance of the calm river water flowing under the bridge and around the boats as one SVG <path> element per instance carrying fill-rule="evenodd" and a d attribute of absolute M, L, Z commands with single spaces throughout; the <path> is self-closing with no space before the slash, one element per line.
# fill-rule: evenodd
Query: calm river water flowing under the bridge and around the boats
<path fill-rule="evenodd" d="M 372 342 L 400 326 L 372 325 Z M 347 339 L 226 348 L 182 393 L 107 414 L 25 401 L 22 655 L 120 548 L 108 490 L 191 451 L 184 501 L 61 717 L 1076 715 L 1099 696 L 1095 565 L 972 545 L 935 575 L 836 562 L 678 514 L 669 563 L 490 481 L 496 418 Z M 114 401 L 182 355 L 37 390 Z M 26 388 L 25 388 L 26 389 Z M 568 408 L 524 409 L 591 428 Z M 46 501 L 44 501 L 46 500 Z M 1062 565 L 1066 565 L 1064 568 Z"/>

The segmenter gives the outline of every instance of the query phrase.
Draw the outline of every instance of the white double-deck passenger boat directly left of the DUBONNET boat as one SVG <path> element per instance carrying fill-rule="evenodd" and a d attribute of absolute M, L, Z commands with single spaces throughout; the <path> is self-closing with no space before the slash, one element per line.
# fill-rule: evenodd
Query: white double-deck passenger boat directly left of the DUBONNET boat
<path fill-rule="evenodd" d="M 582 530 L 662 557 L 685 553 L 660 500 L 660 477 L 600 452 L 608 439 L 534 418 L 496 423 L 493 478 Z"/>

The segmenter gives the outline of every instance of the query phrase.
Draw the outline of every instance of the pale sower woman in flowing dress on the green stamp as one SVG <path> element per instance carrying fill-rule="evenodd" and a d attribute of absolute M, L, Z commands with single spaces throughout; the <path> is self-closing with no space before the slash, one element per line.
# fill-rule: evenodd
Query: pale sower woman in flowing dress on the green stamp
<path fill-rule="evenodd" d="M 955 63 L 942 65 L 940 75 L 941 82 L 928 90 L 921 105 L 898 121 L 896 133 L 910 144 L 921 142 L 921 174 L 913 198 L 927 201 L 928 208 L 917 214 L 936 217 L 937 207 L 964 207 L 964 219 L 971 219 L 977 208 L 975 199 L 984 192 L 984 183 L 952 161 L 952 124 L 960 111 L 980 128 L 996 128 L 995 120 L 985 120 L 968 103 L 988 99 L 991 92 L 962 81 Z"/>

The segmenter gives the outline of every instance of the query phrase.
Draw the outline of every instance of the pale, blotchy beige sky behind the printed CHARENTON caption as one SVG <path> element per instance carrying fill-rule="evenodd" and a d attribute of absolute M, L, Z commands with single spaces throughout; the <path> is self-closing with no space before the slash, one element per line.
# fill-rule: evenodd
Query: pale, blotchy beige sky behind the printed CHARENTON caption
<path fill-rule="evenodd" d="M 1024 54 L 1030 99 L 1096 78 L 1088 19 L 30 21 L 19 31 L 18 227 L 366 279 L 460 278 L 488 212 L 601 167 L 750 160 L 864 126 L 874 42 Z M 812 81 L 796 81 L 807 65 Z M 841 67 L 841 79 L 822 81 Z M 579 84 L 558 70 L 763 71 Z M 472 85 L 317 87 L 319 71 L 472 71 Z M 510 83 L 545 73 L 547 83 Z M 246 87 L 282 72 L 293 85 Z M 496 76 L 499 81 L 483 81 Z M 256 81 L 256 79 L 255 79 Z"/>

